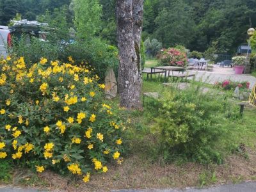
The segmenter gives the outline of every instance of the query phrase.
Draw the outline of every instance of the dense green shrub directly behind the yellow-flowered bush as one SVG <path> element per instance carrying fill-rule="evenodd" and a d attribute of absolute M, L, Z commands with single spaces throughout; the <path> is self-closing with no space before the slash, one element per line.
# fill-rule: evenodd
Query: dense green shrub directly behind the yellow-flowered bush
<path fill-rule="evenodd" d="M 72 56 L 77 65 L 82 61 L 90 63 L 91 67 L 95 68 L 95 74 L 100 77 L 100 81 L 104 81 L 108 67 L 113 67 L 117 74 L 118 50 L 104 40 L 93 38 L 66 44 L 56 40 L 54 36 L 49 39 L 49 41 L 42 42 L 36 37 L 29 38 L 22 35 L 20 38 L 15 38 L 11 52 L 17 57 L 24 57 L 29 65 L 36 63 L 42 57 L 48 58 L 50 61 L 68 62 L 67 58 Z"/>

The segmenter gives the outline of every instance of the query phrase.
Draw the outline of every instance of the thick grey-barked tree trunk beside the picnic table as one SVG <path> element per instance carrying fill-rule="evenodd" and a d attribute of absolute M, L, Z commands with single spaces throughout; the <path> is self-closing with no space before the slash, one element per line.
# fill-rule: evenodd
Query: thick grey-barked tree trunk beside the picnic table
<path fill-rule="evenodd" d="M 118 90 L 120 106 L 141 108 L 140 42 L 143 18 L 143 0 L 117 0 L 118 22 Z"/>

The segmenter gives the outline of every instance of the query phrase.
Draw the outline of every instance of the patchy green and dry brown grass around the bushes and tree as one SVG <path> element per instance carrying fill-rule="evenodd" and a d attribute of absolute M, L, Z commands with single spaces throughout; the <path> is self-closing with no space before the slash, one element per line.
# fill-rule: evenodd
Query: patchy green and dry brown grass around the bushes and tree
<path fill-rule="evenodd" d="M 156 61 L 148 61 L 153 66 Z M 156 64 L 156 63 L 155 63 Z M 209 85 L 207 85 L 209 86 Z M 144 81 L 143 92 L 161 92 L 165 88 L 161 82 Z M 115 101 L 116 102 L 116 101 Z M 237 108 L 238 109 L 238 108 Z M 69 191 L 108 191 L 110 189 L 141 188 L 185 188 L 189 186 L 209 186 L 212 184 L 237 183 L 256 180 L 256 109 L 246 107 L 244 116 L 223 126 L 228 137 L 216 144 L 226 154 L 223 164 L 198 164 L 187 161 L 164 163 L 153 154 L 156 136 L 150 129 L 154 120 L 148 121 L 143 111 L 123 111 L 131 126 L 125 145 L 129 145 L 124 163 L 108 166 L 106 174 L 95 173 L 87 184 L 82 180 L 61 177 L 52 172 L 40 175 L 28 170 L 15 169 L 2 183 L 15 186 L 38 187 Z M 5 166 L 8 166 L 6 164 Z M 0 164 L 1 167 L 1 164 Z M 3 164 L 2 164 L 3 169 Z M 2 170 L 1 169 L 1 170 Z"/>

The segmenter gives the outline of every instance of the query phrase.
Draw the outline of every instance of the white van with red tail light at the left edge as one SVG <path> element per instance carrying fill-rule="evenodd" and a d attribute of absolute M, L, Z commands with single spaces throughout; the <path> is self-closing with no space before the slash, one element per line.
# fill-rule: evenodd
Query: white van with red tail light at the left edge
<path fill-rule="evenodd" d="M 12 44 L 11 30 L 7 26 L 0 26 L 0 58 L 6 58 L 7 46 Z"/>

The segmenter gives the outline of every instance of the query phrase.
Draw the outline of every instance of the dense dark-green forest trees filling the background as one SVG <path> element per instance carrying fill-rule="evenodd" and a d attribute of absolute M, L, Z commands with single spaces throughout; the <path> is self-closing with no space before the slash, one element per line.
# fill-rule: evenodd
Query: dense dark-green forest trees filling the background
<path fill-rule="evenodd" d="M 99 3 L 102 17 L 96 35 L 116 45 L 115 0 Z M 145 0 L 144 9 L 143 41 L 156 39 L 163 47 L 184 45 L 191 51 L 234 54 L 238 45 L 246 43 L 246 30 L 256 26 L 254 0 Z M 65 16 L 68 27 L 74 25 L 70 0 L 0 0 L 1 25 L 16 13 L 22 19 L 46 22 Z M 50 23 L 63 25 L 56 20 Z"/>

